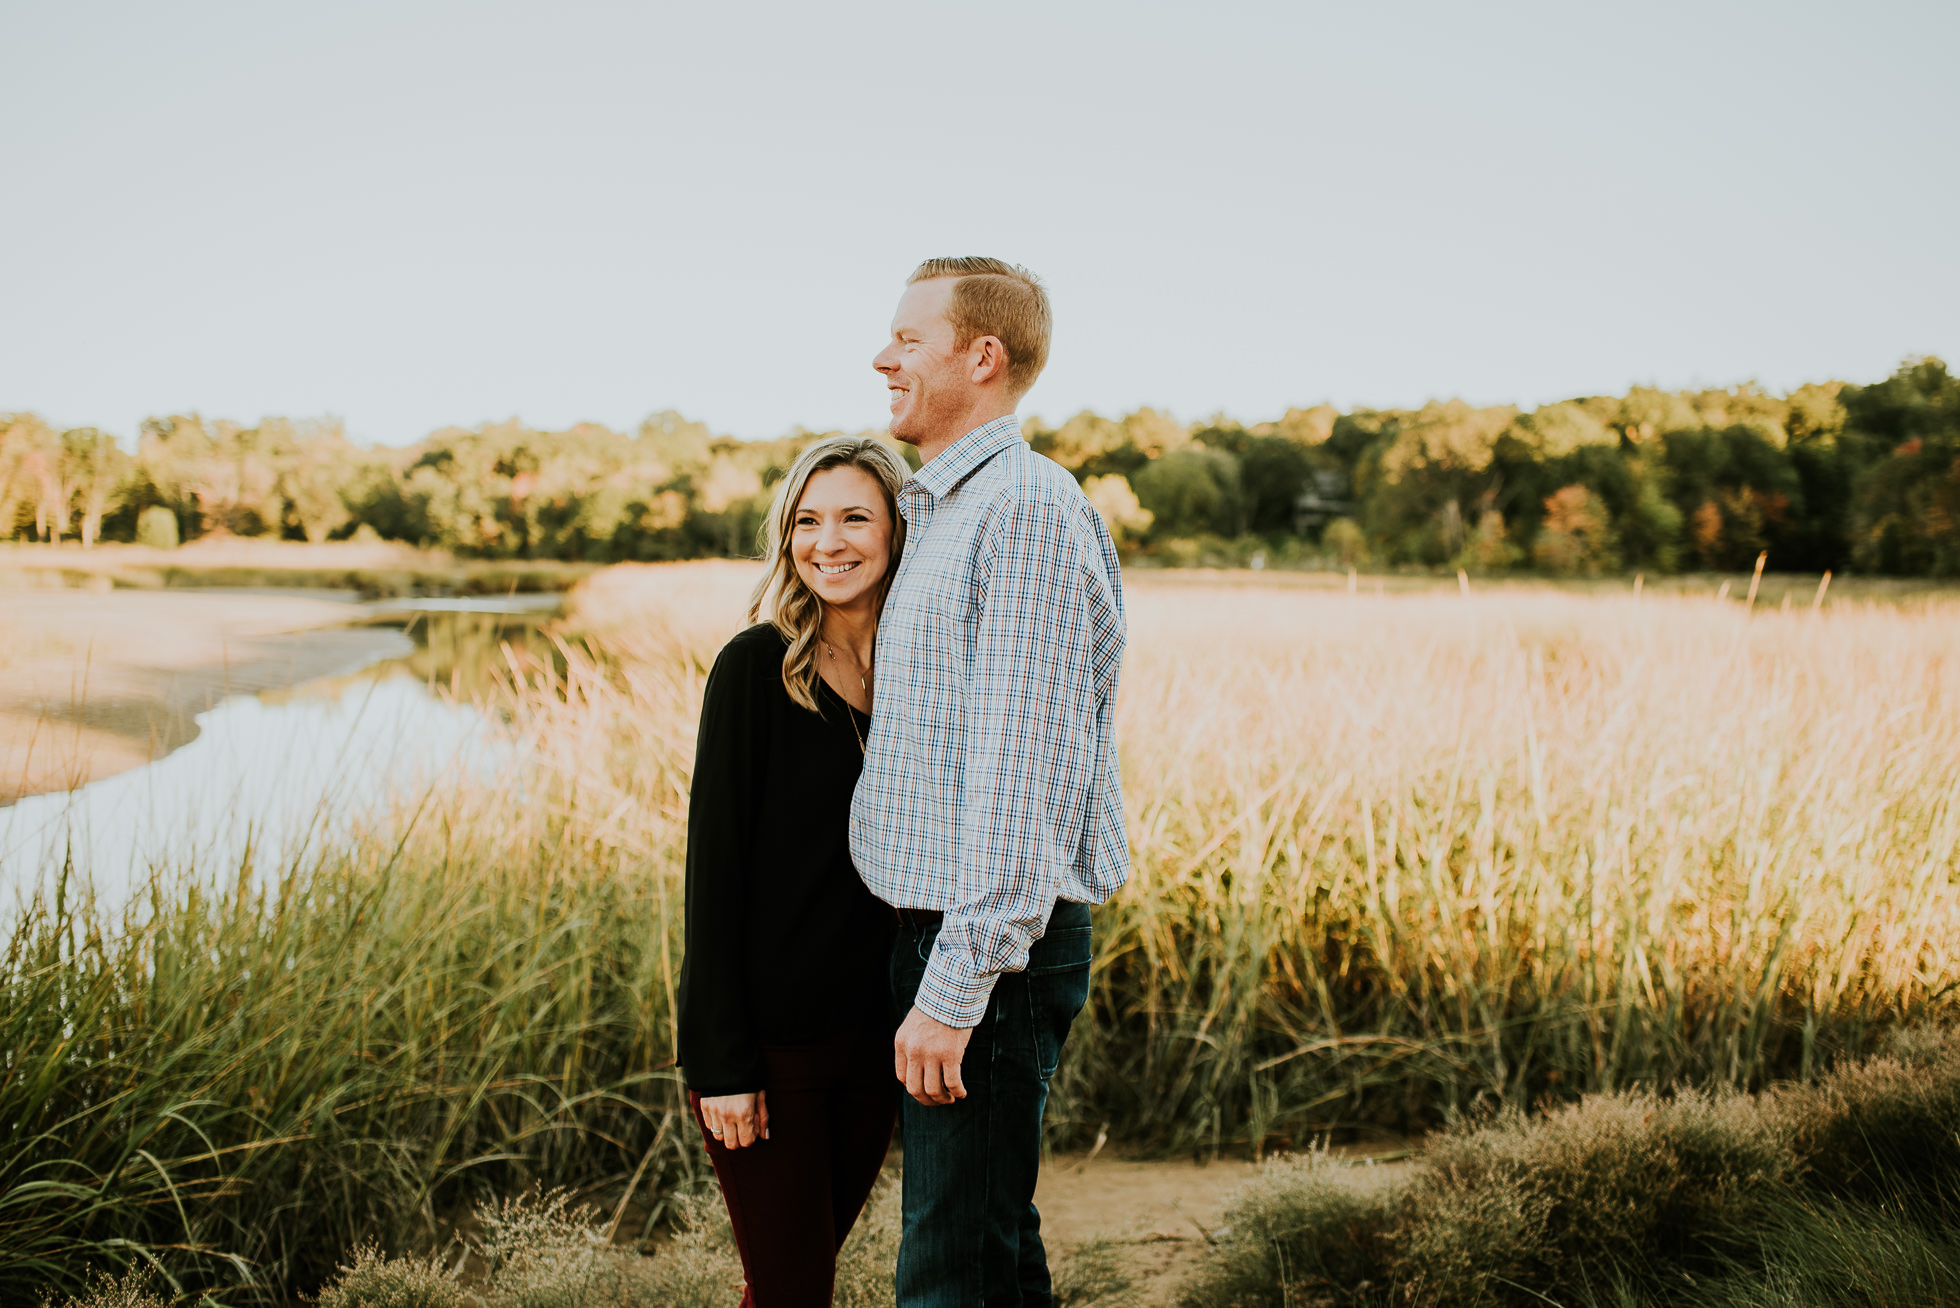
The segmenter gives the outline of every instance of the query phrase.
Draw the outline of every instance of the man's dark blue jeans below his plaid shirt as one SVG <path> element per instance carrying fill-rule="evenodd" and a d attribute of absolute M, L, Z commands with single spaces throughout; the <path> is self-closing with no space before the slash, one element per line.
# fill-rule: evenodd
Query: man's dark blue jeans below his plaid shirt
<path fill-rule="evenodd" d="M 911 1012 L 939 926 L 900 926 L 892 1000 Z M 1051 1308 L 1035 1212 L 1041 1110 L 1090 994 L 1088 904 L 1058 902 L 1025 973 L 1004 973 L 960 1061 L 966 1098 L 904 1100 L 900 1308 Z"/>

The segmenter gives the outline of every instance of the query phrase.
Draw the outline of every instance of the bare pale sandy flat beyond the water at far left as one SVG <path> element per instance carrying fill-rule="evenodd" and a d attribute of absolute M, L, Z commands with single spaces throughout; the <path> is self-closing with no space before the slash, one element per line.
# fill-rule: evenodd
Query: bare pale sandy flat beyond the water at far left
<path fill-rule="evenodd" d="M 141 767 L 229 694 L 365 665 L 353 592 L 0 590 L 0 804 Z"/>

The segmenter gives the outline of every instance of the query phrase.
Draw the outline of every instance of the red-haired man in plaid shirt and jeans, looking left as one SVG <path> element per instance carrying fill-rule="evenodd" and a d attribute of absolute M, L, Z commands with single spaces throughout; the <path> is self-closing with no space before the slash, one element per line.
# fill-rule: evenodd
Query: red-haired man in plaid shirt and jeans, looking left
<path fill-rule="evenodd" d="M 1129 877 L 1115 545 L 1015 418 L 1049 327 L 1025 269 L 927 259 L 872 361 L 923 461 L 851 804 L 858 875 L 900 918 L 902 1308 L 1051 1302 L 1041 1110 L 1088 998 L 1090 904 Z"/>

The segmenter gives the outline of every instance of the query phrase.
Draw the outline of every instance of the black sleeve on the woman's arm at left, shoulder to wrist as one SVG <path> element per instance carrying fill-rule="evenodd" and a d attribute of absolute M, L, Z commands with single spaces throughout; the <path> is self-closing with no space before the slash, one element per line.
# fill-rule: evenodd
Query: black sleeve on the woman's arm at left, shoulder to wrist
<path fill-rule="evenodd" d="M 696 1094 L 762 1088 L 762 1049 L 749 1010 L 745 910 L 755 788 L 766 714 L 753 651 L 729 643 L 708 675 L 688 794 L 686 953 L 678 1051 Z"/>

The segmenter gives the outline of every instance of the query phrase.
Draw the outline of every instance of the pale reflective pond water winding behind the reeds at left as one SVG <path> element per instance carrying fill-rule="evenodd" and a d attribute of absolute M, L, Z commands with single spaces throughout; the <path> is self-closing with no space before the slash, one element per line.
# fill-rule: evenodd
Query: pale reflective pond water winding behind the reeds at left
<path fill-rule="evenodd" d="M 282 869 L 372 831 L 431 788 L 494 779 L 517 747 L 470 692 L 504 641 L 539 643 L 555 608 L 555 596 L 367 606 L 367 667 L 229 696 L 155 763 L 0 808 L 0 916 L 63 865 L 118 912 L 153 873 L 223 886 L 243 867 Z"/>

